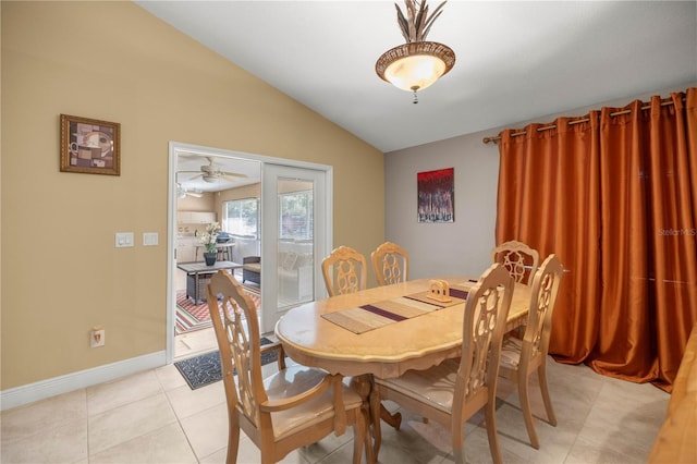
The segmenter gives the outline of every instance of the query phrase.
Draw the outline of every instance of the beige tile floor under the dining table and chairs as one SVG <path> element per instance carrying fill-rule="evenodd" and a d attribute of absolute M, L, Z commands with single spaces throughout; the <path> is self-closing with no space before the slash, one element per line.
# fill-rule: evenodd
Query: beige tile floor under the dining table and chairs
<path fill-rule="evenodd" d="M 559 425 L 536 420 L 540 450 L 528 444 L 513 386 L 500 382 L 497 422 L 505 463 L 646 462 L 665 415 L 667 393 L 551 359 L 548 375 Z M 543 414 L 539 390 L 533 392 L 533 410 Z M 424 424 L 408 411 L 402 415 L 399 431 L 383 424 L 381 463 L 453 462 L 443 428 L 433 422 Z M 222 382 L 191 390 L 173 365 L 4 411 L 0 420 L 3 464 L 225 460 Z M 465 429 L 465 455 L 470 463 L 491 462 L 482 420 L 479 414 Z M 351 430 L 342 437 L 330 436 L 282 462 L 350 463 L 351 441 Z M 257 448 L 244 434 L 237 462 L 259 462 Z"/>

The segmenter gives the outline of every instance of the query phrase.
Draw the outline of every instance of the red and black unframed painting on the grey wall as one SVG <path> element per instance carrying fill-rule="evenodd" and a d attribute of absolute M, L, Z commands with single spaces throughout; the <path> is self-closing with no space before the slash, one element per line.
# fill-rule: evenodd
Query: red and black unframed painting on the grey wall
<path fill-rule="evenodd" d="M 419 222 L 455 222 L 455 168 L 416 174 Z"/>

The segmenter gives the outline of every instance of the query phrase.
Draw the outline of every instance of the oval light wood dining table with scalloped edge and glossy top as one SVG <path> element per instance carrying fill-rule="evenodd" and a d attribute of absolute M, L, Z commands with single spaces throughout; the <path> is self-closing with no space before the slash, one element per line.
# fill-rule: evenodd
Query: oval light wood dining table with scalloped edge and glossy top
<path fill-rule="evenodd" d="M 450 302 L 429 297 L 435 281 L 448 283 Z M 367 399 L 372 376 L 399 377 L 461 355 L 466 293 L 476 282 L 470 277 L 416 279 L 317 300 L 288 310 L 276 325 L 276 337 L 291 359 L 352 377 Z M 529 300 L 530 288 L 515 283 L 506 332 L 525 323 Z M 399 425 L 387 410 L 381 417 Z M 372 445 L 366 453 L 368 462 L 376 462 Z"/>

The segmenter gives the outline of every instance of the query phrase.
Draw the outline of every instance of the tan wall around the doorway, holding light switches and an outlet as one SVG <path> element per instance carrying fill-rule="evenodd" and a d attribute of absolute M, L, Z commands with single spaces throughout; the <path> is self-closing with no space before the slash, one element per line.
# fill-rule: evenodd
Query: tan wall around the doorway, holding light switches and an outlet
<path fill-rule="evenodd" d="M 366 143 L 133 3 L 1 8 L 2 390 L 164 350 L 170 141 L 332 164 L 334 244 L 383 240 Z M 121 123 L 120 176 L 59 172 L 61 113 Z"/>

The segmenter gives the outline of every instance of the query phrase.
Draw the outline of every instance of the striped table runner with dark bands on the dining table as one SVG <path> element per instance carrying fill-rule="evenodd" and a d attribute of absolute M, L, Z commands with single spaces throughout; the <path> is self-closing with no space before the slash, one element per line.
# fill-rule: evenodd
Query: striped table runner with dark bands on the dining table
<path fill-rule="evenodd" d="M 354 333 L 364 333 L 389 323 L 462 304 L 467 298 L 467 289 L 451 286 L 451 301 L 449 302 L 429 298 L 428 294 L 428 291 L 418 292 L 369 305 L 323 314 L 322 317 Z"/>

